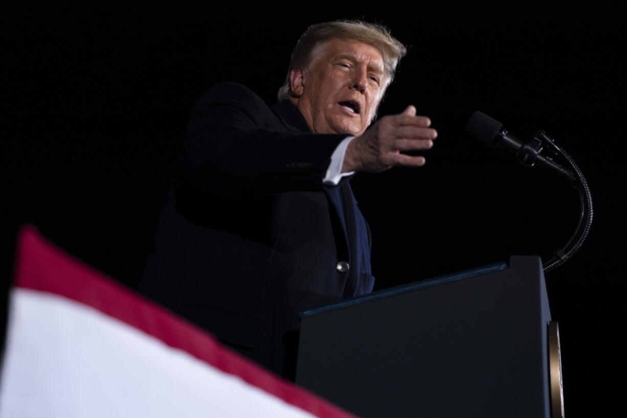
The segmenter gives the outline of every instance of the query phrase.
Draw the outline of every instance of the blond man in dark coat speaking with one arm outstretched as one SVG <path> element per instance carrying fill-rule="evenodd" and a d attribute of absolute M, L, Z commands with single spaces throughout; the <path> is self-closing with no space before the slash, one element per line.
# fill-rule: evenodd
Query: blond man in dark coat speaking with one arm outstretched
<path fill-rule="evenodd" d="M 368 131 L 404 46 L 382 26 L 311 26 L 278 104 L 223 83 L 196 105 L 141 289 L 276 373 L 298 311 L 372 291 L 348 178 L 421 166 L 436 131 L 409 106 Z M 290 338 L 292 337 L 292 338 Z"/>

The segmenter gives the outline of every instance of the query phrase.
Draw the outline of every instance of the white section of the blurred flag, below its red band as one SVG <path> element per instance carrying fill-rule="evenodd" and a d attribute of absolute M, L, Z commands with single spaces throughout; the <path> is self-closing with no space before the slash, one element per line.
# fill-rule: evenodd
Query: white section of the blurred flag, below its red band
<path fill-rule="evenodd" d="M 66 297 L 14 288 L 0 417 L 313 417 Z"/>

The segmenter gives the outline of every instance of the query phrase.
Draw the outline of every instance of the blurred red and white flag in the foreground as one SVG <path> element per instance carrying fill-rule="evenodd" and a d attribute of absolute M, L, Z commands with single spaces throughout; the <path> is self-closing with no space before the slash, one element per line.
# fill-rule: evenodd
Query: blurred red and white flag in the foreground
<path fill-rule="evenodd" d="M 46 242 L 19 235 L 0 417 L 354 415 Z"/>

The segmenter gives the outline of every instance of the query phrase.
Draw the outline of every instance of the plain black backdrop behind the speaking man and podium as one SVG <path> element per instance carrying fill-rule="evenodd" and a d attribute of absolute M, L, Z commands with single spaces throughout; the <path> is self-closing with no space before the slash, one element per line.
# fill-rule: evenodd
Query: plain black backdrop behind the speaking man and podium
<path fill-rule="evenodd" d="M 546 276 L 561 328 L 566 414 L 613 410 L 624 352 L 624 9 L 413 8 L 4 14 L 4 282 L 16 232 L 29 222 L 135 286 L 198 97 L 236 81 L 273 103 L 309 24 L 365 18 L 410 45 L 379 114 L 414 104 L 439 132 L 423 168 L 352 181 L 373 233 L 376 289 L 511 254 L 547 257 L 563 245 L 577 220 L 576 192 L 463 132 L 474 110 L 521 139 L 544 129 L 577 161 L 594 201 L 587 242 Z M 379 9 L 386 10 L 370 12 Z"/>

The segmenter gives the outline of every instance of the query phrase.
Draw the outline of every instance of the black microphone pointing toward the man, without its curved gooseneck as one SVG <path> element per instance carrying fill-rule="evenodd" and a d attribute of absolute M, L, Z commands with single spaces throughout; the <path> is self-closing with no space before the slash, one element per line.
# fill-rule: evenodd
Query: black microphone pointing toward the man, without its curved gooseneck
<path fill-rule="evenodd" d="M 557 164 L 552 158 L 540 154 L 543 147 L 542 140 L 539 139 L 538 136 L 545 141 L 552 142 L 552 139 L 542 131 L 538 132 L 534 139 L 522 142 L 520 139 L 510 134 L 507 129 L 503 127 L 501 122 L 477 110 L 477 112 L 473 113 L 470 119 L 468 119 L 466 132 L 484 145 L 501 146 L 511 151 L 516 154 L 520 163 L 525 166 L 532 167 L 537 164 L 549 169 L 566 180 L 575 180 L 575 176 L 571 171 Z"/>

